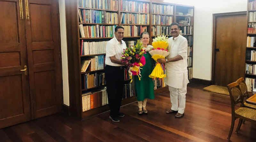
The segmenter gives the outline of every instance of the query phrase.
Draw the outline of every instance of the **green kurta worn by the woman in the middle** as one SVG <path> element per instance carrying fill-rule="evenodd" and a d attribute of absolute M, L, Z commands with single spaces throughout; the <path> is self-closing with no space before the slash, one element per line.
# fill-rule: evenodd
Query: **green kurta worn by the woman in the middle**
<path fill-rule="evenodd" d="M 142 69 L 140 69 L 140 80 L 138 76 L 135 76 L 135 89 L 138 101 L 143 101 L 145 98 L 155 98 L 154 81 L 152 80 L 152 78 L 148 77 L 154 69 L 153 64 L 155 63 L 155 61 L 151 58 L 151 55 L 148 52 L 146 53 L 147 54 L 144 54 L 146 64 L 141 67 Z"/>

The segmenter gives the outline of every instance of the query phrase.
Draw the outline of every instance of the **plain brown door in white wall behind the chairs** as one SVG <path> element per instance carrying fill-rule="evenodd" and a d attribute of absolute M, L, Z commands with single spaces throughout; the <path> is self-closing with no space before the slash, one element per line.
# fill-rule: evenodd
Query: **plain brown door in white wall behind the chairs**
<path fill-rule="evenodd" d="M 214 17 L 216 39 L 213 50 L 215 52 L 214 83 L 226 86 L 244 77 L 246 12 L 228 13 L 227 15 L 224 13 Z"/>

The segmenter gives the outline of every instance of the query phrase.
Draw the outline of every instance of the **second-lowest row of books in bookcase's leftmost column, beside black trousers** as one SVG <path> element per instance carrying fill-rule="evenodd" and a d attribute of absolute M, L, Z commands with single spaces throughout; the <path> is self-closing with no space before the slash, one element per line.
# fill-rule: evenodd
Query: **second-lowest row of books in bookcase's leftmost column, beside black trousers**
<path fill-rule="evenodd" d="M 96 73 L 82 74 L 81 81 L 82 81 L 82 89 L 90 89 L 90 88 L 95 88 L 99 86 L 104 86 L 106 84 L 105 73 L 96 72 Z"/>

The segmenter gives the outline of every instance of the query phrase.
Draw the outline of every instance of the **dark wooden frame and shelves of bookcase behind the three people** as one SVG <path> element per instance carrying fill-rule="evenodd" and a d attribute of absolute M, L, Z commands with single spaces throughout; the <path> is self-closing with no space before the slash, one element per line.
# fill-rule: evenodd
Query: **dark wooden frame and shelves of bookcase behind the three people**
<path fill-rule="evenodd" d="M 92 0 L 93 1 L 93 0 Z M 151 34 L 151 27 L 152 26 L 170 26 L 169 24 L 152 24 L 152 15 L 160 15 L 161 16 L 172 16 L 172 22 L 176 22 L 176 7 L 178 4 L 170 4 L 170 3 L 162 3 L 162 2 L 153 2 L 150 0 L 128 0 L 128 1 L 135 1 L 138 3 L 144 3 L 148 4 L 148 11 L 127 11 L 127 10 L 122 10 L 121 4 L 124 0 L 116 0 L 117 1 L 117 9 L 103 9 L 103 8 L 88 8 L 88 7 L 81 7 L 79 4 L 79 1 L 66 1 L 66 25 L 67 25 L 67 41 L 68 41 L 68 78 L 69 78 L 69 100 L 70 100 L 70 112 L 74 116 L 78 116 L 81 119 L 85 119 L 86 117 L 97 115 L 99 113 L 102 113 L 104 111 L 107 111 L 108 105 L 103 105 L 98 108 L 93 108 L 90 110 L 86 110 L 83 112 L 82 110 L 82 94 L 86 93 L 88 91 L 97 91 L 99 89 L 102 89 L 105 87 L 103 86 L 98 86 L 98 87 L 93 87 L 93 88 L 88 88 L 88 89 L 83 89 L 82 88 L 82 77 L 84 74 L 92 74 L 92 73 L 100 73 L 104 72 L 104 69 L 102 70 L 97 70 L 97 71 L 85 71 L 82 72 L 80 71 L 81 68 L 81 60 L 87 59 L 92 56 L 101 56 L 101 55 L 106 55 L 105 53 L 101 54 L 92 54 L 92 55 L 81 55 L 81 41 L 83 40 L 84 42 L 98 42 L 98 41 L 109 41 L 113 37 L 81 37 L 80 34 L 80 27 L 79 25 L 83 26 L 116 26 L 116 25 L 121 25 L 121 26 L 145 26 L 147 32 L 150 34 L 150 37 L 154 37 L 154 35 Z M 173 11 L 170 14 L 165 14 L 165 13 L 152 13 L 152 4 L 162 4 L 162 5 L 171 5 L 173 6 Z M 181 6 L 181 5 L 179 5 Z M 183 6 L 186 8 L 186 6 Z M 189 6 L 188 6 L 189 7 Z M 187 7 L 187 8 L 188 8 Z M 189 7 L 193 8 L 194 7 Z M 111 13 L 117 13 L 118 16 L 118 24 L 109 24 L 109 23 L 87 23 L 81 22 L 79 11 L 81 10 L 96 10 L 96 11 L 105 11 L 106 12 L 111 12 Z M 194 10 L 193 10 L 194 11 Z M 148 23 L 137 23 L 137 24 L 122 24 L 121 23 L 121 14 L 140 14 L 140 15 L 147 15 L 147 20 Z M 182 17 L 182 16 L 181 16 Z M 187 16 L 183 16 L 182 18 L 184 19 Z M 193 17 L 192 17 L 193 18 Z M 192 25 L 191 25 L 192 26 Z M 186 34 L 184 36 L 193 36 L 193 34 Z M 136 41 L 140 38 L 140 35 L 138 33 L 138 36 L 124 36 L 123 40 L 124 41 Z M 152 40 L 152 39 L 151 39 Z M 152 41 L 150 41 L 151 44 Z M 191 56 L 192 57 L 192 56 Z M 192 67 L 192 66 L 191 66 Z M 125 80 L 127 83 L 130 81 L 129 79 Z M 162 93 L 168 91 L 168 87 L 163 87 L 163 88 L 158 88 L 155 90 L 155 93 Z M 134 92 L 134 88 L 133 88 Z M 135 92 L 134 92 L 135 93 Z M 122 105 L 126 105 L 128 103 L 136 101 L 136 97 L 131 97 L 128 99 L 123 99 Z"/>

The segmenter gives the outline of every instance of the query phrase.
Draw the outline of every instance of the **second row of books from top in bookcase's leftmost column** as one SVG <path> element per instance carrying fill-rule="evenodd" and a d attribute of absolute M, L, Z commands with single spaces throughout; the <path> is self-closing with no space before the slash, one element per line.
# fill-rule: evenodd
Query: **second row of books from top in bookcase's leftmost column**
<path fill-rule="evenodd" d="M 78 13 L 81 23 L 118 24 L 118 15 L 115 12 L 80 9 Z"/>

